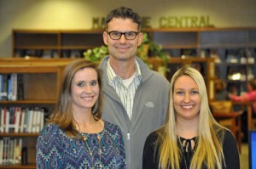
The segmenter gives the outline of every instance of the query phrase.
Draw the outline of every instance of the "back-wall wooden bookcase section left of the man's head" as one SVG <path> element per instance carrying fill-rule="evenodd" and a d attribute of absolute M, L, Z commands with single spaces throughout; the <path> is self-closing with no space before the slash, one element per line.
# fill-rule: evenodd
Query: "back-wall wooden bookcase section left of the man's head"
<path fill-rule="evenodd" d="M 80 58 L 103 45 L 102 30 L 13 30 L 13 56 Z"/>

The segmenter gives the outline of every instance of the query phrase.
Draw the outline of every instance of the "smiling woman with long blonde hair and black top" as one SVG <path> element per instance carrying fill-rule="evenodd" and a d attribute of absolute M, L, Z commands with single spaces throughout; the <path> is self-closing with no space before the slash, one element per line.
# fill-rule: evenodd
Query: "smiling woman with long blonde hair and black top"
<path fill-rule="evenodd" d="M 213 119 L 204 79 L 194 68 L 172 76 L 169 114 L 146 140 L 143 168 L 240 168 L 236 140 Z"/>

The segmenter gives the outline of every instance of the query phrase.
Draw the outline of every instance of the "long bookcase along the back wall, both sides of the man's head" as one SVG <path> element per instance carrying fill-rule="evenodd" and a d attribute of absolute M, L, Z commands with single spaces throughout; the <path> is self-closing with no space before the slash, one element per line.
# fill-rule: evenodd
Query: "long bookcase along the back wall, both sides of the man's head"
<path fill-rule="evenodd" d="M 103 30 L 14 30 L 13 56 L 80 58 L 87 49 L 103 45 L 102 32 Z M 147 32 L 150 39 L 161 44 L 171 57 L 218 56 L 215 60 L 220 62 L 216 62 L 215 75 L 227 83 L 228 90 L 236 84 L 238 94 L 249 78 L 256 77 L 256 28 L 159 28 L 143 29 L 143 32 Z M 230 55 L 235 55 L 239 62 L 234 65 L 229 63 L 227 59 Z M 245 58 L 244 63 L 240 62 L 241 57 Z M 238 70 L 244 69 L 245 81 L 228 80 L 228 71 L 235 67 Z"/>

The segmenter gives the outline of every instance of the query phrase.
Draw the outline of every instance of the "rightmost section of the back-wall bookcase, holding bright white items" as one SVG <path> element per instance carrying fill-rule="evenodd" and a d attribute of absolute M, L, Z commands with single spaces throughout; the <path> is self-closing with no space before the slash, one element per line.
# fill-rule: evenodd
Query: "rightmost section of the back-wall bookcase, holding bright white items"
<path fill-rule="evenodd" d="M 256 29 L 233 28 L 201 32 L 201 50 L 217 52 L 218 77 L 235 94 L 247 91 L 247 81 L 256 77 Z M 210 53 L 210 54 L 209 54 Z"/>

